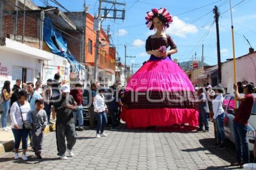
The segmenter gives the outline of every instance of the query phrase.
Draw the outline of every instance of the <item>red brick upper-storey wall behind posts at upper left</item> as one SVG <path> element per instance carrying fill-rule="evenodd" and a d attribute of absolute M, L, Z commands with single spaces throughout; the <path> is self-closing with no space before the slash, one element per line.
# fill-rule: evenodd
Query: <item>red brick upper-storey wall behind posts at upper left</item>
<path fill-rule="evenodd" d="M 16 15 L 5 15 L 3 32 L 6 37 L 7 34 L 14 34 L 14 18 Z M 39 14 L 27 14 L 25 17 L 25 36 L 37 37 L 37 18 Z M 23 35 L 23 15 L 18 16 L 17 35 Z"/>

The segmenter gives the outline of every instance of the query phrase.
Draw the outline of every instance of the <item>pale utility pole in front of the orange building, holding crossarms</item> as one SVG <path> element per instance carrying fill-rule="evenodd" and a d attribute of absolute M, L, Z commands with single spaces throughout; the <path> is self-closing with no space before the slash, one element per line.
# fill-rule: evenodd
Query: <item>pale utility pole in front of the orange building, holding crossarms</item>
<path fill-rule="evenodd" d="M 101 28 L 101 3 L 102 0 L 99 0 L 99 8 L 98 8 L 98 17 L 97 17 L 97 32 L 96 32 L 96 45 L 95 45 L 95 56 L 94 56 L 94 73 L 93 80 L 96 82 L 98 78 L 98 47 L 99 47 L 99 39 L 100 39 L 100 28 Z"/>

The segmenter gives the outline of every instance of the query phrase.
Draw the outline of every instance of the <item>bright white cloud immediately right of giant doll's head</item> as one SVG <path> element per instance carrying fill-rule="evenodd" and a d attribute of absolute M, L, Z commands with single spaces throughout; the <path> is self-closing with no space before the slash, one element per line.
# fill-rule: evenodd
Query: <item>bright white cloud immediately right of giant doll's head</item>
<path fill-rule="evenodd" d="M 180 20 L 177 16 L 173 16 L 173 23 L 166 30 L 167 34 L 176 35 L 179 37 L 186 37 L 187 34 L 197 33 L 198 28 L 193 25 Z"/>

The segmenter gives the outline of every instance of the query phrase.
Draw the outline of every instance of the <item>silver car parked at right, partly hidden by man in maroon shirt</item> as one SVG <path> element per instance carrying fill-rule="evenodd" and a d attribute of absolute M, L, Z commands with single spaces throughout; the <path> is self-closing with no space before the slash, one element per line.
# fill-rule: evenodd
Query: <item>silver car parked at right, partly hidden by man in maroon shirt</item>
<path fill-rule="evenodd" d="M 244 95 L 244 94 L 240 94 Z M 254 99 L 256 98 L 256 93 L 253 94 Z M 239 106 L 241 102 L 237 101 L 237 106 Z M 234 108 L 235 108 L 235 95 L 229 94 L 224 96 L 223 100 L 223 108 L 225 111 L 225 118 L 224 118 L 224 130 L 225 136 L 230 141 L 235 143 L 234 138 L 234 129 L 233 129 L 233 119 L 235 117 Z M 247 132 L 247 142 L 249 144 L 249 150 L 253 151 L 254 148 L 254 141 L 255 141 L 255 130 L 256 130 L 256 99 L 252 107 L 251 117 L 248 120 L 248 132 Z"/>

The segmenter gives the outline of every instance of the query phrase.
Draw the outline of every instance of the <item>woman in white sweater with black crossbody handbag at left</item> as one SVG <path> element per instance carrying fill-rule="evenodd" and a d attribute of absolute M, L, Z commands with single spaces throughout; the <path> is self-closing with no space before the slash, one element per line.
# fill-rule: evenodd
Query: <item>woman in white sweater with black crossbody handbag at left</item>
<path fill-rule="evenodd" d="M 14 159 L 19 159 L 19 146 L 22 140 L 22 159 L 27 160 L 26 150 L 28 143 L 28 133 L 32 129 L 30 124 L 30 104 L 27 102 L 29 94 L 26 90 L 18 93 L 19 100 L 11 106 L 11 128 L 14 135 Z M 31 128 L 31 129 L 30 129 Z"/>

